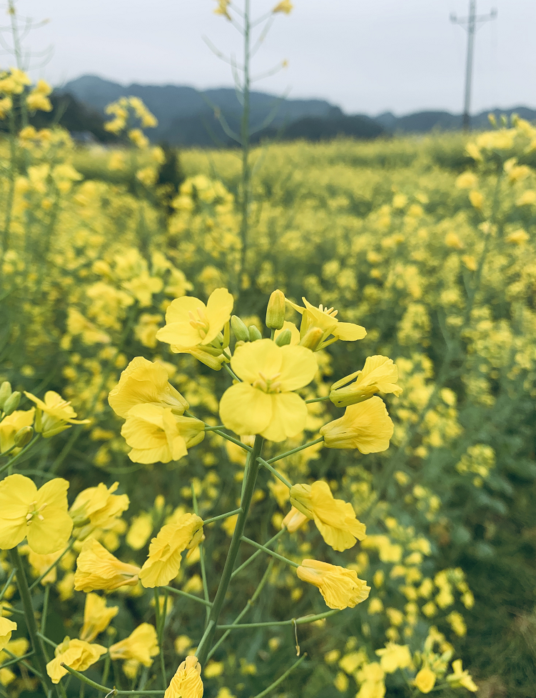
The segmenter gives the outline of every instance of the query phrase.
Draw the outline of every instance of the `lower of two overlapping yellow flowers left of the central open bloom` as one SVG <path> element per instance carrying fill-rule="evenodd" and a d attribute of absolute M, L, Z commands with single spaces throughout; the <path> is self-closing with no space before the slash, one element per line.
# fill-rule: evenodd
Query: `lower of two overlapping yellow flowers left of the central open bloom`
<path fill-rule="evenodd" d="M 178 417 L 167 407 L 138 404 L 128 411 L 121 436 L 132 449 L 128 457 L 134 463 L 168 463 L 202 442 L 204 429 L 199 419 Z"/>

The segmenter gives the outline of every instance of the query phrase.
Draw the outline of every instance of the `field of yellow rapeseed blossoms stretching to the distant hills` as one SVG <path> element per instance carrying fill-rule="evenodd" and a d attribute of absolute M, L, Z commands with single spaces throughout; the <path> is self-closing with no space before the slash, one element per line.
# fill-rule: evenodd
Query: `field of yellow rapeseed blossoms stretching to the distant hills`
<path fill-rule="evenodd" d="M 532 696 L 536 129 L 261 146 L 245 227 L 0 91 L 0 695 Z"/>

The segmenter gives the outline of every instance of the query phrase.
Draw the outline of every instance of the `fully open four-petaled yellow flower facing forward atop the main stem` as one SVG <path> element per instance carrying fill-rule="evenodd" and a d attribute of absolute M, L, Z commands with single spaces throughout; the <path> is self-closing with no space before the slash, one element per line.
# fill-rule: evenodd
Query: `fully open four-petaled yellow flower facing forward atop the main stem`
<path fill-rule="evenodd" d="M 236 350 L 231 368 L 243 382 L 232 385 L 221 398 L 220 416 L 228 429 L 261 434 L 270 441 L 303 431 L 307 406 L 292 391 L 315 376 L 317 363 L 310 349 L 258 339 Z"/>

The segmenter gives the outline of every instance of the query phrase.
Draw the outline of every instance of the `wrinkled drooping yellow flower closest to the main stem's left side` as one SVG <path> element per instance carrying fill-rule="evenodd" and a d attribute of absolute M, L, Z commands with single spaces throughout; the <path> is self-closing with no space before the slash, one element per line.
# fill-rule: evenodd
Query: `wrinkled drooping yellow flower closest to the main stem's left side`
<path fill-rule="evenodd" d="M 193 550 L 203 538 L 203 519 L 196 514 L 183 514 L 176 523 L 163 526 L 151 540 L 149 555 L 140 572 L 144 587 L 164 587 L 174 579 L 181 567 L 181 554 Z"/>

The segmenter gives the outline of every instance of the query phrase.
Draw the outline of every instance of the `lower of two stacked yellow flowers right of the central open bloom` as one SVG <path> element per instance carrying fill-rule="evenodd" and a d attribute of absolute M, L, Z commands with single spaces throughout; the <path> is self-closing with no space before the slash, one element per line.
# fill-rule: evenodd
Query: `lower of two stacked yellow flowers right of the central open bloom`
<path fill-rule="evenodd" d="M 393 436 L 391 421 L 383 400 L 377 396 L 350 405 L 343 417 L 320 429 L 328 449 L 359 449 L 361 453 L 378 453 L 389 448 Z"/>

